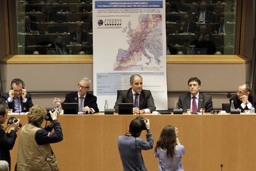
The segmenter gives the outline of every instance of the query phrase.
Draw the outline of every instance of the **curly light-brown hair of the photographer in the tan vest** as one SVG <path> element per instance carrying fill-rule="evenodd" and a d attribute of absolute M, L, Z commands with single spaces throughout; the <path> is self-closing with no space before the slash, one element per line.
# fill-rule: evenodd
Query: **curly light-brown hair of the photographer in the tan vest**
<path fill-rule="evenodd" d="M 46 114 L 47 114 L 47 111 L 45 107 L 40 105 L 35 105 L 29 109 L 29 112 L 27 114 L 28 123 L 41 125 L 41 123 L 43 123 L 43 120 L 45 120 Z"/>

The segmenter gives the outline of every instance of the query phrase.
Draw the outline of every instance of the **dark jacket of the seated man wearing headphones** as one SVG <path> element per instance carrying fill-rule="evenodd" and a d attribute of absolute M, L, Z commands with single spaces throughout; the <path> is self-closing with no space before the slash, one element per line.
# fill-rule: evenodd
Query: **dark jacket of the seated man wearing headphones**
<path fill-rule="evenodd" d="M 5 104 L 5 102 L 7 101 L 7 99 L 9 98 L 9 93 L 4 93 L 2 94 L 2 104 Z M 21 107 L 22 107 L 22 112 L 28 112 L 30 107 L 33 106 L 33 102 L 32 102 L 32 98 L 31 98 L 31 94 L 27 93 L 27 102 L 23 102 L 22 101 L 22 96 L 20 96 L 20 103 L 21 103 Z M 14 110 L 14 101 L 12 102 L 8 102 L 8 107 L 9 109 Z"/>

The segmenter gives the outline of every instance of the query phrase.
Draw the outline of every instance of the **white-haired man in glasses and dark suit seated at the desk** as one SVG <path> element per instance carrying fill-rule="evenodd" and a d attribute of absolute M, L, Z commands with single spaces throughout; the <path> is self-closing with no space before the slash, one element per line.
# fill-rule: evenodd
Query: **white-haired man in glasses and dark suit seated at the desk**
<path fill-rule="evenodd" d="M 88 114 L 99 112 L 96 96 L 88 93 L 90 90 L 90 83 L 91 81 L 88 78 L 82 78 L 77 85 L 77 91 L 67 94 L 64 102 L 78 102 L 78 112 Z M 67 110 L 66 114 L 67 113 L 75 114 L 75 111 Z"/>

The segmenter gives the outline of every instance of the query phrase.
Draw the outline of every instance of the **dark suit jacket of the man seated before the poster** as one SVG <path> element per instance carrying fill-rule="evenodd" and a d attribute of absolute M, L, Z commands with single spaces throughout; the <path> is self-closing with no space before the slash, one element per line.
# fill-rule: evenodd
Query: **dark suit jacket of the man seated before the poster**
<path fill-rule="evenodd" d="M 132 88 L 127 91 L 121 91 L 119 97 L 117 98 L 116 104 L 114 105 L 114 109 L 118 112 L 118 104 L 122 102 L 130 102 L 134 103 L 134 97 L 132 95 Z M 140 92 L 140 99 L 139 99 L 139 109 L 150 109 L 150 112 L 156 110 L 154 99 L 150 90 L 142 90 Z"/>

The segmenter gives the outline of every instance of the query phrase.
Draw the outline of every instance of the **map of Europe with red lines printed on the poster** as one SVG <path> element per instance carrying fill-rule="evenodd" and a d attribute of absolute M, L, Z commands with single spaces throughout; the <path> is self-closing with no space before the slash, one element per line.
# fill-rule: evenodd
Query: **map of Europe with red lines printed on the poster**
<path fill-rule="evenodd" d="M 127 34 L 128 49 L 119 48 L 114 70 L 143 70 L 143 67 L 163 63 L 162 16 L 161 14 L 139 15 L 139 25 L 132 28 L 132 22 L 122 28 Z"/>

